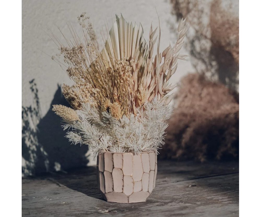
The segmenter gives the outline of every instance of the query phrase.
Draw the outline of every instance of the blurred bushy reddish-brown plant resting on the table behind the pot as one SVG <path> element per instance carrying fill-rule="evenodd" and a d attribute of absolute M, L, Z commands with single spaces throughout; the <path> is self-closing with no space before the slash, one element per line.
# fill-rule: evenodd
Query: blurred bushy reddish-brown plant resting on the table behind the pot
<path fill-rule="evenodd" d="M 201 162 L 238 157 L 239 101 L 235 92 L 196 73 L 183 78 L 176 100 L 161 157 Z"/>

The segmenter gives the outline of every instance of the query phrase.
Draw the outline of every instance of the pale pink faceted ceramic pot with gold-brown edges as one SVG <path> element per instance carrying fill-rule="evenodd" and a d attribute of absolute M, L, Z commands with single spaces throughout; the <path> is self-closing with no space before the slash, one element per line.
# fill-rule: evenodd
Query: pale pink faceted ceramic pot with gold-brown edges
<path fill-rule="evenodd" d="M 104 152 L 97 157 L 98 188 L 109 202 L 145 202 L 155 187 L 156 175 L 155 152 Z"/>

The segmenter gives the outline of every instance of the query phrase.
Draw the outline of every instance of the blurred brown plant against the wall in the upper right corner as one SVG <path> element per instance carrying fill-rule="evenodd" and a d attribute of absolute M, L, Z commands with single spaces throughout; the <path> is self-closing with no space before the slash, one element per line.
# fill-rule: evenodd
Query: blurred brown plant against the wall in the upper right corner
<path fill-rule="evenodd" d="M 237 0 L 170 0 L 179 20 L 191 25 L 188 43 L 195 70 L 238 91 L 239 18 Z M 173 24 L 171 24 L 173 26 Z"/>

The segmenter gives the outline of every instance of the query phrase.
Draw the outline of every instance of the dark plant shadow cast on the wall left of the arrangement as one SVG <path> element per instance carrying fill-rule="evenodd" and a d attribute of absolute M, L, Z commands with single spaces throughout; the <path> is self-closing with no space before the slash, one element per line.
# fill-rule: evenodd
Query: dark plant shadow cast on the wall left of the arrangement
<path fill-rule="evenodd" d="M 50 109 L 42 117 L 37 85 L 34 79 L 29 83 L 33 104 L 22 107 L 22 175 L 86 166 L 88 146 L 71 145 L 64 137 L 60 117 L 51 110 L 53 104 L 69 106 L 61 87 L 58 86 Z"/>

